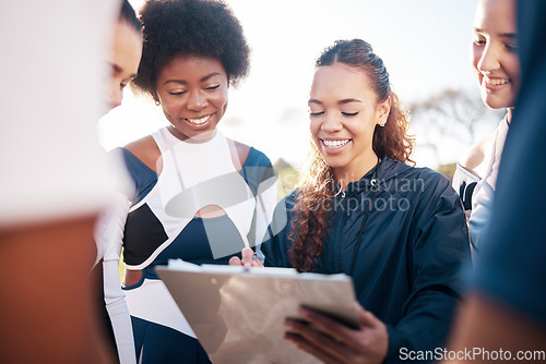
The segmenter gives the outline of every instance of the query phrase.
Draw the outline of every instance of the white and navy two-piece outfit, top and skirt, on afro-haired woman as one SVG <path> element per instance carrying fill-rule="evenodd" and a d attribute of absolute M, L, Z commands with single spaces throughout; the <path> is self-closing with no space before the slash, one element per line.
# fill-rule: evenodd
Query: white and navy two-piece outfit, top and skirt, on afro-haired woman
<path fill-rule="evenodd" d="M 138 283 L 123 288 L 136 360 L 207 363 L 155 267 L 175 258 L 227 264 L 242 247 L 260 244 L 276 205 L 276 177 L 269 158 L 254 148 L 237 166 L 233 142 L 218 131 L 204 143 L 180 141 L 166 128 L 152 136 L 162 154 L 159 174 L 129 150 L 115 150 L 134 182 L 128 211 L 111 223 L 118 226 L 112 244 L 123 247 L 126 267 L 142 271 Z M 210 205 L 225 214 L 195 217 Z"/>

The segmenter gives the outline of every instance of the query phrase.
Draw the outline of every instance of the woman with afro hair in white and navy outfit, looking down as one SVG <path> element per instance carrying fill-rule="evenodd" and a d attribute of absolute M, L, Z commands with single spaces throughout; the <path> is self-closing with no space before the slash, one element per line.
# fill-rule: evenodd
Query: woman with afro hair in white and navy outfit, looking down
<path fill-rule="evenodd" d="M 216 128 L 229 86 L 249 69 L 232 10 L 213 0 L 149 0 L 140 20 L 144 47 L 132 86 L 161 106 L 166 126 L 117 149 L 135 189 L 111 239 L 123 247 L 138 362 L 209 363 L 155 267 L 174 258 L 227 264 L 261 242 L 276 180 L 263 153 Z"/>

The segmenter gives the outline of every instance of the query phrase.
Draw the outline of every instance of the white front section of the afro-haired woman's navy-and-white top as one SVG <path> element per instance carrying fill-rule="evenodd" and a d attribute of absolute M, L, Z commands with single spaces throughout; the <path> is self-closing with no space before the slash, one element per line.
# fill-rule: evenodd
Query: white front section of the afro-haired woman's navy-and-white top
<path fill-rule="evenodd" d="M 203 207 L 221 207 L 249 246 L 248 233 L 252 223 L 256 199 L 252 191 L 234 165 L 228 139 L 219 132 L 206 142 L 180 141 L 167 128 L 152 134 L 163 157 L 162 173 L 150 193 L 133 211 L 146 204 L 162 222 L 168 239 L 143 263 L 128 269 L 149 266 L 186 228 Z M 240 169 L 240 167 L 239 167 Z M 203 219 L 205 230 L 206 219 Z M 225 256 L 222 244 L 212 244 L 214 258 Z M 236 253 L 236 252 L 229 252 Z"/>

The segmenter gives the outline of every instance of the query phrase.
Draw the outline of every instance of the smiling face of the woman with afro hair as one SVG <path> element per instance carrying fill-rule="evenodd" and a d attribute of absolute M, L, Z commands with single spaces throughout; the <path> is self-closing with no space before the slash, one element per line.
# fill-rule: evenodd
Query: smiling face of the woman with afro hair
<path fill-rule="evenodd" d="M 227 85 L 219 60 L 177 56 L 159 71 L 154 98 L 171 133 L 183 141 L 216 129 L 227 108 Z"/>

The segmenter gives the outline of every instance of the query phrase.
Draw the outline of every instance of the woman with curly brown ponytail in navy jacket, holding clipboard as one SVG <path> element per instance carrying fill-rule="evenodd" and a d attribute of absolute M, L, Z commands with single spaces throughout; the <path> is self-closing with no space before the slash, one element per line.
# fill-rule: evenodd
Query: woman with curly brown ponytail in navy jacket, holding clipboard
<path fill-rule="evenodd" d="M 327 363 L 441 348 L 470 258 L 459 197 L 440 173 L 407 165 L 407 117 L 369 44 L 336 41 L 316 65 L 309 167 L 277 206 L 264 263 L 347 274 L 365 308 L 358 330 L 301 310 L 313 325 L 287 320 L 287 339 Z"/>

